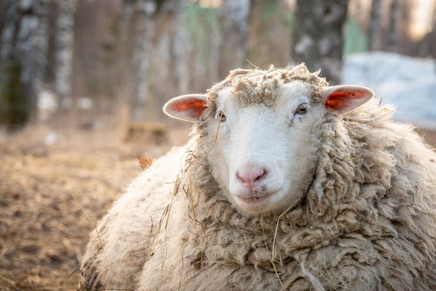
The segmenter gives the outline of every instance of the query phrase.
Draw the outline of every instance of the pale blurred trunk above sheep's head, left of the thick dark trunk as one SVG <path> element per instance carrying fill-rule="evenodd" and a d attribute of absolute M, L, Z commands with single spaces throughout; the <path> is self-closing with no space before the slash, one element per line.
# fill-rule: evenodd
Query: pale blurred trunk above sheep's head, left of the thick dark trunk
<path fill-rule="evenodd" d="M 220 76 L 244 65 L 248 36 L 250 0 L 224 0 L 221 10 L 222 38 L 220 45 Z"/>

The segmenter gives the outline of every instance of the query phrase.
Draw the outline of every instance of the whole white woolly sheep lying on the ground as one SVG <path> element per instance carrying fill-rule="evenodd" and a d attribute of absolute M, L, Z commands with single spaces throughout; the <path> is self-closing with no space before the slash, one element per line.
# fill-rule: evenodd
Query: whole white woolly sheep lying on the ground
<path fill-rule="evenodd" d="M 170 100 L 191 139 L 99 222 L 78 289 L 434 290 L 436 156 L 372 97 L 299 64 Z"/>

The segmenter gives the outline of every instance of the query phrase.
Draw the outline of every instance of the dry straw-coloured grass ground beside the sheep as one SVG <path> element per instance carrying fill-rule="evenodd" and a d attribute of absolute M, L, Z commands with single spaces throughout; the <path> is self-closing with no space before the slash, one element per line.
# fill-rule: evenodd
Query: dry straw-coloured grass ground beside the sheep
<path fill-rule="evenodd" d="M 73 290 L 93 228 L 81 207 L 96 223 L 141 171 L 138 156 L 160 156 L 188 132 L 170 130 L 165 145 L 132 145 L 116 130 L 58 125 L 58 141 L 48 146 L 48 131 L 0 134 L 0 290 Z M 436 132 L 423 133 L 436 146 Z"/>

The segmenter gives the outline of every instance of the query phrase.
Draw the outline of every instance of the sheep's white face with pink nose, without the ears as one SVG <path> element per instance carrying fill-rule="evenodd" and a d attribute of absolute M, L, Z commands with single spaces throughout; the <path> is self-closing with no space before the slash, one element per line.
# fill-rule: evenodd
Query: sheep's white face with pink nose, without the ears
<path fill-rule="evenodd" d="M 302 82 L 282 85 L 271 103 L 241 102 L 234 87 L 216 99 L 208 120 L 212 174 L 229 201 L 248 213 L 282 211 L 310 182 L 316 146 L 311 127 L 317 108 Z M 302 182 L 308 181 L 308 182 Z"/>

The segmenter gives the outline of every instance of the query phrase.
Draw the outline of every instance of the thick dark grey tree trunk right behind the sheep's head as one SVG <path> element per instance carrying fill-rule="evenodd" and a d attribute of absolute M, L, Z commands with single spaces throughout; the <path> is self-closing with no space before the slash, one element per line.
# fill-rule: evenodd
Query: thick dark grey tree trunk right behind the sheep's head
<path fill-rule="evenodd" d="M 311 71 L 321 69 L 331 84 L 340 82 L 347 4 L 348 0 L 297 0 L 293 62 L 305 62 Z"/>

